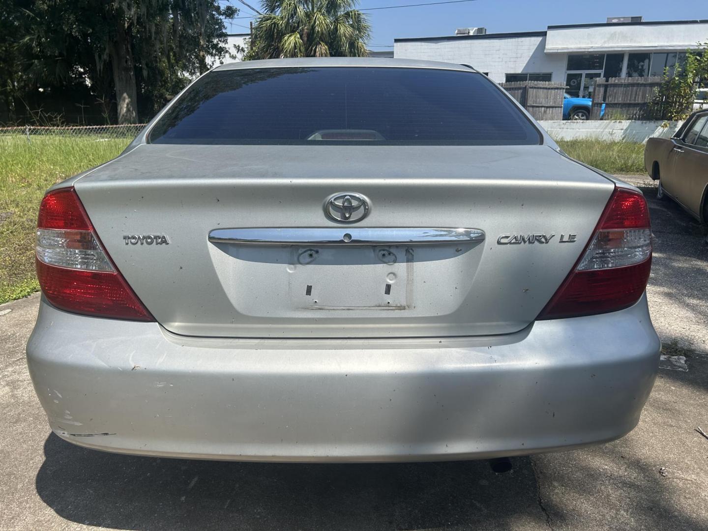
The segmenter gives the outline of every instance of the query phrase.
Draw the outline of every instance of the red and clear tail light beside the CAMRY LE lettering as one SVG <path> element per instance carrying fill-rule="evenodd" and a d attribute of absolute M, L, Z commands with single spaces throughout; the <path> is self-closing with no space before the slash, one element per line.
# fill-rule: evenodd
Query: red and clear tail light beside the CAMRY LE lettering
<path fill-rule="evenodd" d="M 632 306 L 651 270 L 651 223 L 641 193 L 615 188 L 581 259 L 538 319 L 615 312 Z"/>

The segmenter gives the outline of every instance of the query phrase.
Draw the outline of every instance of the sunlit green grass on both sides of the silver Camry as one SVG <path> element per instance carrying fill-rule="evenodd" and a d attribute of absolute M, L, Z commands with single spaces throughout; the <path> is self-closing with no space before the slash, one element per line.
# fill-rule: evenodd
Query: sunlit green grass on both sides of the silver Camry
<path fill-rule="evenodd" d="M 45 190 L 118 156 L 128 138 L 0 136 L 0 303 L 39 289 L 34 244 L 37 210 Z M 644 145 L 637 142 L 566 140 L 574 159 L 607 173 L 644 173 Z"/>

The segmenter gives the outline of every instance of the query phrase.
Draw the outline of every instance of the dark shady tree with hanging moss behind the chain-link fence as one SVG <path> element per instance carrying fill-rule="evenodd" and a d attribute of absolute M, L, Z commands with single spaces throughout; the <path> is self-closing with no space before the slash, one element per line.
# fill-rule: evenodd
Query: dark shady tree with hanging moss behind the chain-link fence
<path fill-rule="evenodd" d="M 0 111 L 63 91 L 110 121 L 149 118 L 227 55 L 237 13 L 218 0 L 0 0 Z"/>

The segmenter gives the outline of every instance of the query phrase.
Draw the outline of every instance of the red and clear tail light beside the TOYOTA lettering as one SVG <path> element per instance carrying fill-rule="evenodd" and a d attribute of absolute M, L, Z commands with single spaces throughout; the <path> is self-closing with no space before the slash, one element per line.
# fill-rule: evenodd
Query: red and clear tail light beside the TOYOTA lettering
<path fill-rule="evenodd" d="M 103 249 L 74 188 L 45 195 L 35 251 L 42 292 L 55 307 L 98 317 L 154 321 Z"/>

